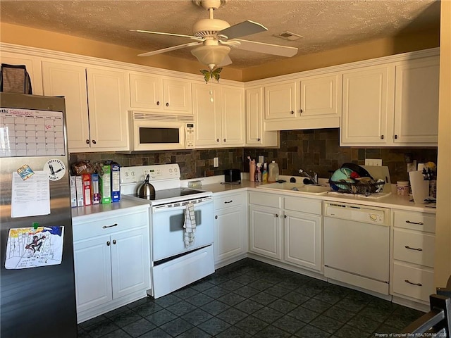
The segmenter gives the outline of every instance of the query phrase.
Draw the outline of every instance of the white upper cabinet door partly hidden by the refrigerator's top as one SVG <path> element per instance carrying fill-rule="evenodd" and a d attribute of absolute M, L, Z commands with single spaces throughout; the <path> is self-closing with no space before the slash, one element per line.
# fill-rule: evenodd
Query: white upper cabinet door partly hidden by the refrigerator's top
<path fill-rule="evenodd" d="M 64 96 L 69 151 L 89 150 L 86 68 L 82 65 L 42 61 L 44 95 Z"/>

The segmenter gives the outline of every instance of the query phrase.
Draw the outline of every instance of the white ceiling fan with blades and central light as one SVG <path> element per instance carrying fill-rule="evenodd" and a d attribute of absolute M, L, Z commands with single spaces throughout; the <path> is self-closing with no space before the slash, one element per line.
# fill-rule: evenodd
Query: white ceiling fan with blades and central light
<path fill-rule="evenodd" d="M 230 26 L 224 20 L 215 19 L 213 16 L 214 10 L 218 9 L 223 4 L 226 4 L 227 1 L 228 0 L 192 0 L 197 6 L 202 6 L 209 11 L 208 19 L 201 19 L 194 23 L 192 27 L 193 35 L 152 32 L 148 30 L 130 30 L 131 32 L 186 37 L 194 40 L 194 42 L 179 44 L 178 46 L 171 46 L 156 51 L 149 51 L 147 53 L 139 54 L 138 56 L 151 56 L 166 53 L 166 51 L 175 51 L 176 49 L 197 46 L 191 51 L 192 55 L 194 55 L 200 63 L 208 65 L 211 71 L 216 67 L 230 65 L 232 63 L 232 60 L 228 55 L 231 47 L 243 49 L 245 51 L 257 51 L 259 53 L 286 57 L 295 56 L 297 54 L 297 48 L 295 47 L 237 39 L 237 37 L 265 32 L 268 29 L 264 27 L 264 25 L 255 23 L 251 20 L 246 20 L 242 23 Z"/>

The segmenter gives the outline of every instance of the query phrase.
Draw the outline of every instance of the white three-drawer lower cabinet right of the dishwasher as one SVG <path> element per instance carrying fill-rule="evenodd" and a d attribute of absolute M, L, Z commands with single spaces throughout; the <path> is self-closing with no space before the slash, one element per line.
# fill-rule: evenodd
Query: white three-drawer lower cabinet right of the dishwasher
<path fill-rule="evenodd" d="M 428 304 L 434 289 L 435 215 L 392 211 L 390 293 Z"/>

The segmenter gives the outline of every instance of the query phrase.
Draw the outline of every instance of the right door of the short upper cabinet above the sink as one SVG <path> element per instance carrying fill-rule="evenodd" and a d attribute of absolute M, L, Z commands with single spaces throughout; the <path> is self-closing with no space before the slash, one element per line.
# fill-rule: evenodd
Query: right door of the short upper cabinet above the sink
<path fill-rule="evenodd" d="M 341 85 L 341 75 L 338 74 L 302 79 L 301 117 L 340 116 Z"/>

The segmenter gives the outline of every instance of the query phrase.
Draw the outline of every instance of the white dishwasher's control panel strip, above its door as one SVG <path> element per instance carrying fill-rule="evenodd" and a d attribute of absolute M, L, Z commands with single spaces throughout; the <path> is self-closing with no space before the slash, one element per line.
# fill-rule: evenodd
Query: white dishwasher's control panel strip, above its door
<path fill-rule="evenodd" d="M 390 209 L 376 206 L 324 201 L 323 216 L 362 223 L 390 225 Z"/>

